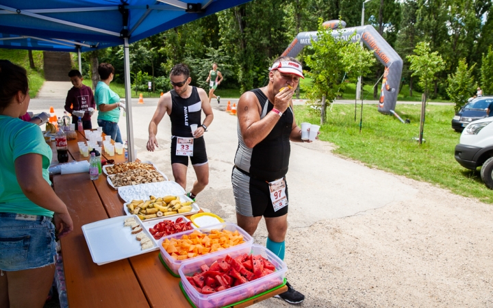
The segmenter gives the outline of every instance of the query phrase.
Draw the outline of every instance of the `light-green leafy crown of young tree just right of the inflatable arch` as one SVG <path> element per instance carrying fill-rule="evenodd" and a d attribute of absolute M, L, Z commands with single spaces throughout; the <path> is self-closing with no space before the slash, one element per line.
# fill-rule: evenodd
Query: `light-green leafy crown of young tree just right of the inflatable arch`
<path fill-rule="evenodd" d="M 414 55 L 408 55 L 411 62 L 409 68 L 414 70 L 413 76 L 418 76 L 418 84 L 423 88 L 425 99 L 429 94 L 431 84 L 435 80 L 435 74 L 445 68 L 445 62 L 437 51 L 430 51 L 429 42 L 419 42 L 414 49 Z"/>

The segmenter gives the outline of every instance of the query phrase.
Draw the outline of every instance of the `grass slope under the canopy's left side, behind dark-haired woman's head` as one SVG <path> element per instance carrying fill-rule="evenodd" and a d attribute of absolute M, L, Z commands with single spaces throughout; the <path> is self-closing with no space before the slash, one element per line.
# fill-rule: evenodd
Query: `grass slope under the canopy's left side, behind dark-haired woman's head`
<path fill-rule="evenodd" d="M 29 55 L 27 50 L 1 48 L 0 59 L 9 60 L 12 63 L 23 66 L 23 68 L 27 70 L 27 76 L 29 77 L 29 96 L 36 97 L 45 82 L 42 51 L 33 51 L 35 69 L 29 67 Z"/>

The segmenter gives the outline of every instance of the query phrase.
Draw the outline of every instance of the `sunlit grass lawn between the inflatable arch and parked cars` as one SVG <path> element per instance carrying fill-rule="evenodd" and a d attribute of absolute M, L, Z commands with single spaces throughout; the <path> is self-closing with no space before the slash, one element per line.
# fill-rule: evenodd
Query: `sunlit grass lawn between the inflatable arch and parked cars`
<path fill-rule="evenodd" d="M 299 123 L 320 123 L 320 114 L 309 107 L 295 105 L 294 110 Z M 320 128 L 320 140 L 336 144 L 335 153 L 367 166 L 493 203 L 492 191 L 481 181 L 479 169 L 468 170 L 455 161 L 454 149 L 460 134 L 451 128 L 453 106 L 427 107 L 423 137 L 426 142 L 422 145 L 412 140 L 419 133 L 420 104 L 398 104 L 396 112 L 411 123 L 405 125 L 393 116 L 380 114 L 376 106 L 365 105 L 359 133 L 359 106 L 355 121 L 353 105 L 333 105 L 332 112 L 327 111 L 327 123 Z"/>

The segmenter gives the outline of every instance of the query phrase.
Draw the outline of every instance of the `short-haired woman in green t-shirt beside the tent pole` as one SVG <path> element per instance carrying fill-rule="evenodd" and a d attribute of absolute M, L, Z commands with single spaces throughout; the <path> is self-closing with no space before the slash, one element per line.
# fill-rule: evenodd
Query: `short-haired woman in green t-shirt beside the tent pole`
<path fill-rule="evenodd" d="M 103 133 L 111 136 L 115 142 L 122 142 L 118 120 L 120 109 L 125 110 L 125 103 L 121 103 L 118 94 L 110 89 L 110 82 L 114 77 L 114 67 L 109 63 L 101 63 L 98 66 L 99 81 L 94 91 L 98 113 L 98 125 L 103 127 Z"/>

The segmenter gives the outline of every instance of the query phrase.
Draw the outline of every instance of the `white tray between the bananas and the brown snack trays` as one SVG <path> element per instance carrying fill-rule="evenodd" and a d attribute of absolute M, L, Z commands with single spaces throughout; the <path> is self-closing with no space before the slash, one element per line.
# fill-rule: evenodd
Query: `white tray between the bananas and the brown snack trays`
<path fill-rule="evenodd" d="M 149 196 L 181 196 L 185 190 L 175 181 L 144 183 L 139 185 L 121 186 L 118 194 L 125 202 L 132 200 L 149 200 Z"/>

